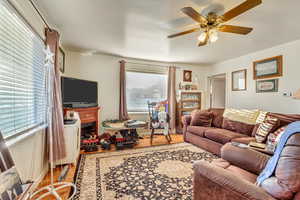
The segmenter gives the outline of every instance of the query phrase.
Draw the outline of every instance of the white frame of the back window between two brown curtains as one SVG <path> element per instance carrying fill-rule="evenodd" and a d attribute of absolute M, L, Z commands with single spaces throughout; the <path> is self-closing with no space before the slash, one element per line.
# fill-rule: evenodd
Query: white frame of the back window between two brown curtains
<path fill-rule="evenodd" d="M 143 70 L 143 69 L 126 69 L 125 70 L 125 76 L 127 76 L 127 72 L 135 72 L 135 73 L 141 73 L 141 74 L 155 74 L 155 75 L 165 75 L 167 80 L 166 80 L 166 92 L 168 91 L 168 72 L 162 71 L 162 70 Z M 126 77 L 126 101 L 127 101 L 127 96 L 128 92 L 127 92 L 127 77 Z M 167 94 L 166 94 L 167 95 Z M 167 98 L 167 96 L 166 96 Z M 128 101 L 127 101 L 127 111 L 128 114 L 147 114 L 148 113 L 148 109 L 141 111 L 141 110 L 129 110 L 128 109 Z"/>

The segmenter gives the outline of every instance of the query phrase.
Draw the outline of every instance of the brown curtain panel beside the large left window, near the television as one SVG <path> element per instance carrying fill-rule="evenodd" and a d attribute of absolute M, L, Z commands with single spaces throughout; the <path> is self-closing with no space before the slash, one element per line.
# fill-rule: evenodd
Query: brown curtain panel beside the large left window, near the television
<path fill-rule="evenodd" d="M 46 45 L 50 47 L 54 54 L 54 77 L 52 85 L 53 105 L 52 105 L 52 123 L 49 124 L 52 129 L 52 148 L 53 161 L 60 160 L 66 156 L 65 138 L 64 138 L 64 120 L 63 120 L 63 106 L 61 97 L 61 79 L 58 66 L 58 52 L 59 52 L 59 33 L 55 30 L 46 29 Z M 49 144 L 49 129 L 48 132 L 48 148 Z"/>

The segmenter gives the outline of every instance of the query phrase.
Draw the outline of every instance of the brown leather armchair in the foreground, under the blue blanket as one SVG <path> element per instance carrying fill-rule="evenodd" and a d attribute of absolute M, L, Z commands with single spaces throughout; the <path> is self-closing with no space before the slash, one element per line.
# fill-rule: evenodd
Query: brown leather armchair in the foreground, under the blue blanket
<path fill-rule="evenodd" d="M 221 158 L 194 164 L 194 200 L 300 200 L 300 133 L 290 137 L 274 176 L 261 187 L 256 178 L 269 156 L 228 143 Z"/>

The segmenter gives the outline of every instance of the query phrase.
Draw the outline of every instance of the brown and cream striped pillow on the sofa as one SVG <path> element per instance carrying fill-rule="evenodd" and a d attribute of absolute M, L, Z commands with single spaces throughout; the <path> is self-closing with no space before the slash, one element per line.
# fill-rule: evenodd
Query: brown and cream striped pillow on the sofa
<path fill-rule="evenodd" d="M 276 129 L 279 125 L 279 119 L 267 116 L 265 121 L 261 123 L 256 131 L 255 139 L 256 142 L 264 142 L 268 137 L 269 133 L 271 133 L 274 129 Z"/>

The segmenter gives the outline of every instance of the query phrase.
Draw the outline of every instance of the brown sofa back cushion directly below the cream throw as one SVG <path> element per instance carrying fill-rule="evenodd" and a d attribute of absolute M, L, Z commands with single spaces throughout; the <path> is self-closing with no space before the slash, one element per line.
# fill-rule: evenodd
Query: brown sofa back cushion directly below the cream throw
<path fill-rule="evenodd" d="M 223 124 L 222 124 L 222 128 L 224 129 L 237 132 L 237 133 L 242 133 L 248 136 L 252 135 L 252 131 L 254 127 L 255 125 L 253 124 L 246 124 L 243 122 L 232 121 L 227 118 L 223 119 Z"/>

